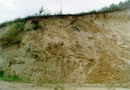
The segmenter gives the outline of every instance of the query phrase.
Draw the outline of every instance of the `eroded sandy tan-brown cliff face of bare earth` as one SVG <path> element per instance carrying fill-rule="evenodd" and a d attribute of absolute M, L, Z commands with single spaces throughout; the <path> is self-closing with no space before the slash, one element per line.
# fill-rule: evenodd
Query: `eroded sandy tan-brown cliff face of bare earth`
<path fill-rule="evenodd" d="M 35 21 L 41 27 L 22 33 L 20 45 L 1 48 L 0 68 L 31 81 L 128 82 L 129 12 L 30 19 L 25 29 Z"/>

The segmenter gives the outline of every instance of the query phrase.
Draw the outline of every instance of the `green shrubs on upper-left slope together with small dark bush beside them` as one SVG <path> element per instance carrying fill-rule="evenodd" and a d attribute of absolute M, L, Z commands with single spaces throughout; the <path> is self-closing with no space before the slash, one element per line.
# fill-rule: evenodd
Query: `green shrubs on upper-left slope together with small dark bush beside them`
<path fill-rule="evenodd" d="M 0 45 L 2 47 L 8 47 L 14 44 L 19 45 L 22 41 L 20 35 L 22 32 L 37 30 L 41 26 L 35 21 L 31 28 L 25 30 L 25 22 L 22 21 L 9 24 L 8 27 L 7 31 L 0 36 Z"/>

